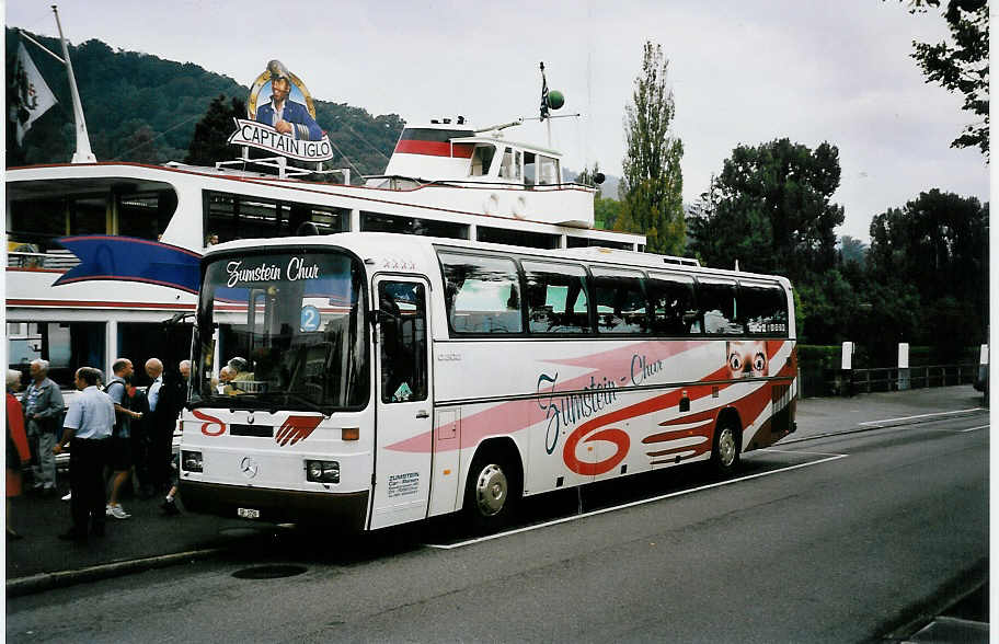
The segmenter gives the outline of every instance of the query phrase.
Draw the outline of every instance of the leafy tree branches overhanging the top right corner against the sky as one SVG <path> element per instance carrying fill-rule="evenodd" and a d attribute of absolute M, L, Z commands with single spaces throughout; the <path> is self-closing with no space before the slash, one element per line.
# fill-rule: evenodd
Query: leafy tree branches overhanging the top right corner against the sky
<path fill-rule="evenodd" d="M 940 0 L 910 0 L 909 12 L 940 7 Z M 964 94 L 963 110 L 979 120 L 965 126 L 952 148 L 977 147 L 989 159 L 989 9 L 987 0 L 950 0 L 943 13 L 952 43 L 919 43 L 912 58 L 927 82 Z"/>

